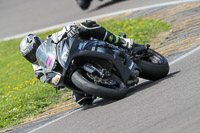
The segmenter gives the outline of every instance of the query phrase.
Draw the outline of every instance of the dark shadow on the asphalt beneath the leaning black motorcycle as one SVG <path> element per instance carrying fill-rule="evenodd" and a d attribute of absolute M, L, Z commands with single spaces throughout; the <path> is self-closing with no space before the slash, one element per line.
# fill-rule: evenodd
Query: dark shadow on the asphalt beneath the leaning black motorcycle
<path fill-rule="evenodd" d="M 158 84 L 159 82 L 161 82 L 163 80 L 166 80 L 166 79 L 169 79 L 169 78 L 173 78 L 178 73 L 180 73 L 180 71 L 176 71 L 176 72 L 170 73 L 165 78 L 162 78 L 162 79 L 156 80 L 156 81 L 147 80 L 147 81 L 145 81 L 145 82 L 143 82 L 143 83 L 141 83 L 141 84 L 129 89 L 128 94 L 127 94 L 126 97 L 132 96 L 133 94 L 135 94 L 137 92 L 140 92 L 140 91 L 143 91 L 145 89 L 148 89 L 149 87 L 154 86 L 154 85 Z M 119 101 L 119 100 L 117 100 L 117 101 Z M 95 107 L 98 107 L 98 106 L 104 106 L 104 105 L 111 104 L 111 103 L 114 103 L 114 102 L 117 102 L 117 101 L 116 100 L 99 99 L 93 105 L 89 105 L 89 106 L 83 107 L 83 110 L 95 108 Z"/>

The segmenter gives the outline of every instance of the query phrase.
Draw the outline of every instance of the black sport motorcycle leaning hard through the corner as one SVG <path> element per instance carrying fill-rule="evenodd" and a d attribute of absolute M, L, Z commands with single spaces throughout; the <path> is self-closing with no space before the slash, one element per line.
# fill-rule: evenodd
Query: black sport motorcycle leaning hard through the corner
<path fill-rule="evenodd" d="M 149 47 L 134 44 L 132 50 L 126 50 L 79 37 L 64 39 L 56 45 L 48 38 L 38 47 L 36 57 L 46 74 L 62 74 L 65 87 L 82 94 L 118 100 L 138 83 L 137 77 L 158 80 L 168 74 L 166 58 Z"/>

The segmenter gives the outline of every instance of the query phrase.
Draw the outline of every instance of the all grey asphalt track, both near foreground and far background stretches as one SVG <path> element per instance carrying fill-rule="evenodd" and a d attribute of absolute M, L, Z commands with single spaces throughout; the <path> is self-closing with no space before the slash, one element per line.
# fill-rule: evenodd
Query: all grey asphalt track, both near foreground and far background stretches
<path fill-rule="evenodd" d="M 21 4 L 18 2 L 21 2 Z M 58 5 L 56 3 L 53 4 L 52 2 L 52 4 L 48 4 L 45 8 L 45 0 L 43 0 L 44 3 L 42 2 L 40 4 L 37 3 L 40 2 L 39 0 L 32 1 L 38 7 L 35 11 L 32 11 L 32 9 L 30 11 L 30 8 L 33 8 L 33 6 L 27 7 L 30 4 L 29 2 L 31 1 L 9 0 L 6 2 L 0 0 L 0 18 L 3 20 L 0 21 L 0 38 L 84 17 L 103 14 L 106 13 L 106 11 L 122 10 L 125 8 L 123 4 L 127 6 L 127 9 L 129 7 L 133 8 L 145 6 L 150 3 L 157 4 L 166 1 L 150 0 L 145 3 L 145 0 L 140 0 L 123 1 L 109 6 L 92 5 L 89 10 L 84 12 L 77 7 L 74 1 L 71 2 L 71 6 L 65 6 L 64 4 Z M 51 3 L 51 1 L 46 2 Z M 55 2 L 67 3 L 66 1 Z M 106 3 L 106 1 L 104 2 Z M 94 3 L 107 5 L 98 1 L 95 1 Z M 66 10 L 67 7 L 69 7 L 68 10 L 73 9 L 71 14 L 74 13 L 74 15 L 64 17 L 64 15 L 67 16 L 67 14 L 70 13 Z M 25 13 L 25 11 L 30 14 L 33 13 L 34 15 L 39 15 L 40 18 L 34 19 L 30 14 L 27 14 L 27 12 Z M 63 15 L 60 11 L 68 11 L 68 13 Z M 51 17 L 48 14 L 51 14 Z M 26 19 L 23 19 L 22 21 L 20 18 Z M 172 63 L 170 65 L 169 75 L 166 78 L 156 82 L 144 81 L 142 84 L 131 90 L 128 96 L 122 100 L 103 100 L 88 109 L 74 112 L 66 117 L 62 117 L 59 120 L 42 126 L 39 129 L 35 129 L 32 132 L 199 133 L 199 52 L 200 48 L 198 47 L 197 50 L 191 52 L 189 56 L 185 56 L 178 62 Z M 178 55 L 177 58 L 181 56 L 182 55 Z"/>

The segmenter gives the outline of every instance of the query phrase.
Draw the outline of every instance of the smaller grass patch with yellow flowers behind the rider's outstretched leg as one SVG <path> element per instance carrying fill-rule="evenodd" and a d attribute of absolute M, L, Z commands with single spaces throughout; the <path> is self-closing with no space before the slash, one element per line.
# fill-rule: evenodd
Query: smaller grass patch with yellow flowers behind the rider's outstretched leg
<path fill-rule="evenodd" d="M 109 20 L 100 24 L 116 35 L 119 35 L 118 32 L 126 33 L 127 38 L 133 38 L 134 42 L 139 44 L 149 43 L 158 33 L 170 29 L 166 22 L 143 18 Z"/>

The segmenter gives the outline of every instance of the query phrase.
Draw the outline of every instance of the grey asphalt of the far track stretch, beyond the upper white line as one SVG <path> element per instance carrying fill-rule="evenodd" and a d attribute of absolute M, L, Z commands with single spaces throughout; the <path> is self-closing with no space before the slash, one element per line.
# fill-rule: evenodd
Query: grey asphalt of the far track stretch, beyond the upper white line
<path fill-rule="evenodd" d="M 81 10 L 75 0 L 0 0 L 0 40 L 105 13 L 174 0 L 93 0 Z"/>

